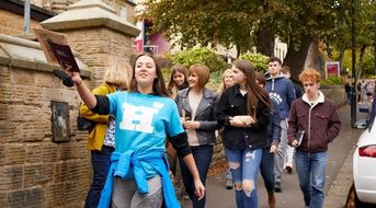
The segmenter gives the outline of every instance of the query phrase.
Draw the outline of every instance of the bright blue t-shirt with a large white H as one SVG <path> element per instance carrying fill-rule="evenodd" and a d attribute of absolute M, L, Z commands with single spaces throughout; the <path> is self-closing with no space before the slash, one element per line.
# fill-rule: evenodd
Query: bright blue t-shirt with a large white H
<path fill-rule="evenodd" d="M 110 114 L 116 117 L 116 152 L 164 151 L 167 134 L 173 137 L 184 131 L 176 104 L 169 97 L 134 92 L 115 92 L 107 97 Z M 146 162 L 141 165 L 148 178 L 157 174 Z"/>

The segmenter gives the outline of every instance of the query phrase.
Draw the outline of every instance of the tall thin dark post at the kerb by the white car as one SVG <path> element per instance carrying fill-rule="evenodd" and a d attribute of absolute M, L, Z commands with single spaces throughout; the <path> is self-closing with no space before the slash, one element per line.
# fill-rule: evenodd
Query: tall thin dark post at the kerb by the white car
<path fill-rule="evenodd" d="M 352 80 L 353 80 L 353 90 L 352 90 L 352 96 L 351 96 L 351 126 L 355 128 L 356 123 L 356 61 L 355 61 L 355 0 L 351 0 L 351 46 L 352 46 Z"/>

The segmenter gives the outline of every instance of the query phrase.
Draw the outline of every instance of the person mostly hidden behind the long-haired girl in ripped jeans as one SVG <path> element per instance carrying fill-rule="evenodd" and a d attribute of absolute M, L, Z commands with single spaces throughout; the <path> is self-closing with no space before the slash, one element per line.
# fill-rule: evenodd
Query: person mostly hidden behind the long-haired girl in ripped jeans
<path fill-rule="evenodd" d="M 255 72 L 255 82 L 261 86 L 265 86 L 265 77 Z M 281 117 L 280 108 L 276 101 L 271 99 L 272 113 L 271 120 L 267 126 L 267 143 L 262 149 L 262 158 L 260 164 L 261 176 L 264 180 L 264 185 L 267 192 L 267 205 L 270 208 L 275 207 L 274 196 L 274 154 L 278 152 L 278 143 L 281 140 Z"/>

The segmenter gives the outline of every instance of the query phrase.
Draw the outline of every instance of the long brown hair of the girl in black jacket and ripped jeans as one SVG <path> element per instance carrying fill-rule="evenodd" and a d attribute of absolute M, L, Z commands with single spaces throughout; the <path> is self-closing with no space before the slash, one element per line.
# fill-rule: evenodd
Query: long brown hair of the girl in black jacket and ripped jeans
<path fill-rule="evenodd" d="M 271 101 L 269 94 L 264 89 L 255 83 L 255 73 L 252 63 L 248 60 L 237 60 L 233 66 L 246 74 L 246 90 L 247 90 L 247 113 L 255 117 L 254 113 L 261 101 L 269 111 L 271 111 Z"/>

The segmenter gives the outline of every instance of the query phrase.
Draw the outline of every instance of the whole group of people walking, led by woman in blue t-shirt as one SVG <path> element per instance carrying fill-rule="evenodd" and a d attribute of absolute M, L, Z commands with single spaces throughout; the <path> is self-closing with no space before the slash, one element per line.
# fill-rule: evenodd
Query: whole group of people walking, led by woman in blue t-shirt
<path fill-rule="evenodd" d="M 86 207 L 180 207 L 167 143 L 176 151 L 193 207 L 205 207 L 216 132 L 225 147 L 237 207 L 258 207 L 259 171 L 269 206 L 275 207 L 287 143 L 296 148 L 305 205 L 322 207 L 327 148 L 339 134 L 340 120 L 333 102 L 319 91 L 316 70 L 300 73 L 305 94 L 296 101 L 277 58 L 270 59 L 266 79 L 251 62 L 236 60 L 217 93 L 206 88 L 210 70 L 205 65 L 193 65 L 187 71 L 174 67 L 166 88 L 161 69 L 149 54 L 139 55 L 133 68 L 114 61 L 104 83 L 92 92 L 79 73 L 66 72 L 86 104 L 82 116 L 100 124 L 88 140 L 93 183 Z M 306 134 L 298 143 L 296 134 L 301 130 Z"/>

